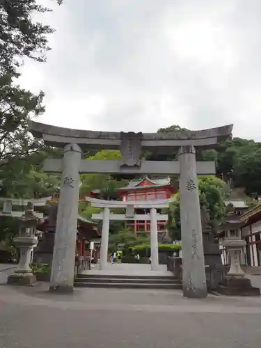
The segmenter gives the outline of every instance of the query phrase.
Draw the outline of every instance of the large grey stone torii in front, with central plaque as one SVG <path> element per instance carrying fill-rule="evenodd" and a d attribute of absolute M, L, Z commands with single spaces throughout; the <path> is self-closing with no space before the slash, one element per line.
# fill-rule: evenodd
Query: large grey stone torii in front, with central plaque
<path fill-rule="evenodd" d="M 197 175 L 215 173 L 214 162 L 196 162 L 196 148 L 214 148 L 232 125 L 174 133 L 94 132 L 29 122 L 29 131 L 46 145 L 63 147 L 63 159 L 45 160 L 44 170 L 62 173 L 50 290 L 72 292 L 77 233 L 79 173 L 180 174 L 183 294 L 207 296 Z M 141 150 L 168 153 L 178 161 L 143 161 Z M 120 161 L 81 159 L 81 150 L 120 149 Z"/>

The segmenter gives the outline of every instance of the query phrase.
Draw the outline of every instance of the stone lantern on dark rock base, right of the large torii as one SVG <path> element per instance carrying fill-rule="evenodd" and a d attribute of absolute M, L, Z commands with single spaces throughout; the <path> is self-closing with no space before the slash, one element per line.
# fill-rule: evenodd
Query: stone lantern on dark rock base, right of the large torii
<path fill-rule="evenodd" d="M 240 254 L 242 248 L 246 246 L 246 241 L 242 240 L 240 228 L 245 223 L 246 221 L 242 221 L 240 216 L 235 214 L 235 209 L 228 205 L 226 219 L 219 226 L 219 231 L 225 233 L 222 244 L 230 256 L 230 269 L 223 285 L 219 286 L 219 292 L 222 294 L 232 296 L 260 295 L 260 289 L 252 287 L 251 280 L 245 277 L 245 272 L 241 267 Z"/>

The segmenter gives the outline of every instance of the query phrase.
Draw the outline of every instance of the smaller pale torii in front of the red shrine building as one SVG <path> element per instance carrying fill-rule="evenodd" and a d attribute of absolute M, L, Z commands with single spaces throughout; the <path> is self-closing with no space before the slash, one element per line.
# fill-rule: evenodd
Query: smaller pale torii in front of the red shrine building
<path fill-rule="evenodd" d="M 145 200 L 144 202 L 120 202 L 118 200 L 100 200 L 96 198 L 88 198 L 86 200 L 93 207 L 102 208 L 102 214 L 93 214 L 93 219 L 102 220 L 102 244 L 100 249 L 100 270 L 106 267 L 109 242 L 109 224 L 110 220 L 132 220 L 146 219 L 150 220 L 150 253 L 151 253 L 151 269 L 157 271 L 159 269 L 159 251 L 158 251 L 158 220 L 168 220 L 168 215 L 157 214 L 157 209 L 167 208 L 173 201 L 172 198 L 166 200 Z M 110 214 L 110 209 L 124 208 L 126 214 Z M 150 209 L 150 214 L 136 215 L 135 209 Z"/>

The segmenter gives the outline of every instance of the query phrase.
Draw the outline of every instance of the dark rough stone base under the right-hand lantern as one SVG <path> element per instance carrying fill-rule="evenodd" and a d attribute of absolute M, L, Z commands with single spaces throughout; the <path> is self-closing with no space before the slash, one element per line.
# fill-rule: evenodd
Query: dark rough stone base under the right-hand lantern
<path fill-rule="evenodd" d="M 217 290 L 225 296 L 260 296 L 260 289 L 251 285 L 251 280 L 245 277 L 226 276 Z"/>

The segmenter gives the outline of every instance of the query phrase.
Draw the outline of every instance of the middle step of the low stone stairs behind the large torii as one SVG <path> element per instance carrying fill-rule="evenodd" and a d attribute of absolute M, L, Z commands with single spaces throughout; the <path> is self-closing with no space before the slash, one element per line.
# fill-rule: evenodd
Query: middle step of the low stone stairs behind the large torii
<path fill-rule="evenodd" d="M 77 277 L 75 278 L 75 283 L 164 283 L 164 284 L 179 284 L 180 281 L 175 278 L 110 278 L 109 276 L 104 276 L 103 278 L 95 278 L 95 277 Z"/>

